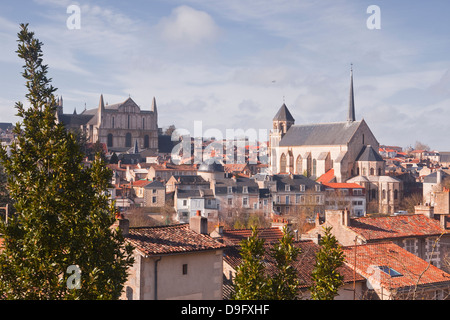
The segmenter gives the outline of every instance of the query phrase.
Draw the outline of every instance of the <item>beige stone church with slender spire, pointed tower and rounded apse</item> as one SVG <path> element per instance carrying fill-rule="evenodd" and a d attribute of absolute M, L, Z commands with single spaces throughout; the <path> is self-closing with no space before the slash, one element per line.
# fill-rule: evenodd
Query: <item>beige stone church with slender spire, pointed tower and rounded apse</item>
<path fill-rule="evenodd" d="M 375 202 L 379 212 L 383 213 L 398 209 L 402 183 L 385 176 L 385 161 L 378 153 L 377 139 L 364 119 L 356 120 L 355 117 L 353 70 L 345 121 L 295 124 L 294 117 L 283 104 L 272 123 L 270 174 L 303 174 L 316 180 L 333 170 L 334 176 L 328 182 L 364 181 L 360 185 L 366 188 L 367 203 Z"/>

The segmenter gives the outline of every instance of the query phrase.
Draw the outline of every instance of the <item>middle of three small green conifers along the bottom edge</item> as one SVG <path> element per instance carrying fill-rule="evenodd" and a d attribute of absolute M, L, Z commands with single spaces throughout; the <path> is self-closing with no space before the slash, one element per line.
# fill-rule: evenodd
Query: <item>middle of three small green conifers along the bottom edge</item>
<path fill-rule="evenodd" d="M 268 299 L 297 299 L 299 279 L 295 262 L 300 251 L 300 248 L 294 246 L 294 236 L 287 227 L 284 227 L 283 237 L 270 248 L 270 256 L 276 263 L 276 272 L 269 279 Z"/>

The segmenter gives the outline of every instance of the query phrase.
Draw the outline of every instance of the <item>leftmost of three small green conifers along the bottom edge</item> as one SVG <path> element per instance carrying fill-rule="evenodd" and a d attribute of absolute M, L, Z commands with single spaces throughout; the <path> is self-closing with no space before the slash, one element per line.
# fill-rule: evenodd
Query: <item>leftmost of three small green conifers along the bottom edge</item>
<path fill-rule="evenodd" d="M 266 298 L 267 278 L 264 266 L 264 239 L 259 239 L 258 229 L 252 227 L 252 235 L 241 241 L 241 264 L 234 278 L 235 300 L 262 300 Z"/>

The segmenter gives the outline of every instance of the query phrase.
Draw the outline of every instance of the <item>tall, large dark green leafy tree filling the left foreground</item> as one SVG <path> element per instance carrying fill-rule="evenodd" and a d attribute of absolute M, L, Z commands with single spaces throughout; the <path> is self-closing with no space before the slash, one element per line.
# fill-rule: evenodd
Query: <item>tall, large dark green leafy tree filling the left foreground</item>
<path fill-rule="evenodd" d="M 16 103 L 21 118 L 17 142 L 0 160 L 16 213 L 0 222 L 0 296 L 7 299 L 117 299 L 133 264 L 132 247 L 118 229 L 106 190 L 111 171 L 98 155 L 84 168 L 73 133 L 56 123 L 56 89 L 43 65 L 42 43 L 21 24 L 18 56 L 29 107 Z M 77 266 L 81 274 L 68 272 Z M 79 289 L 69 286 L 73 276 Z"/>

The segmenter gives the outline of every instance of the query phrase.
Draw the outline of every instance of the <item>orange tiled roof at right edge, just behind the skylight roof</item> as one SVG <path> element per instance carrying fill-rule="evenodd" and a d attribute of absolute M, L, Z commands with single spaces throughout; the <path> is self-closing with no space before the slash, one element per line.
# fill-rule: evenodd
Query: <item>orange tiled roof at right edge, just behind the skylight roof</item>
<path fill-rule="evenodd" d="M 403 237 L 420 237 L 450 233 L 442 229 L 438 220 L 422 214 L 362 217 L 351 219 L 350 229 L 366 240 L 382 240 Z"/>

